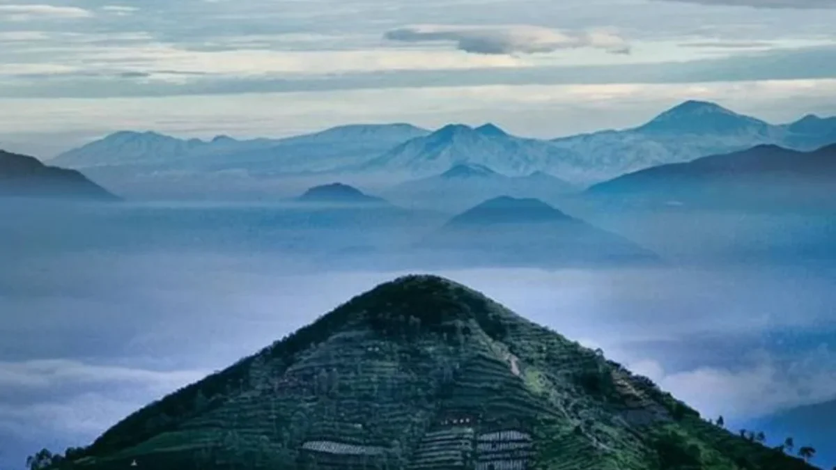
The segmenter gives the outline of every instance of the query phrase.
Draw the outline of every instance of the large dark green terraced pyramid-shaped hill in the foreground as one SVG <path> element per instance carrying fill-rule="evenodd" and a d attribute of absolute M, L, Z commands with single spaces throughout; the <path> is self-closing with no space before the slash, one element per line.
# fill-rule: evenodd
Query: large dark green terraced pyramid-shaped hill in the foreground
<path fill-rule="evenodd" d="M 125 418 L 75 469 L 812 468 L 444 278 L 359 295 Z"/>

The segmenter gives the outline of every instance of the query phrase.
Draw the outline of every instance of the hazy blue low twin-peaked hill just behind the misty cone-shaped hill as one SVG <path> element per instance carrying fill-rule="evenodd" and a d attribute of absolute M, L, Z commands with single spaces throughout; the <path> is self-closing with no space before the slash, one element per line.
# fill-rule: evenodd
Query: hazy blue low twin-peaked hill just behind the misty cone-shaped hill
<path fill-rule="evenodd" d="M 543 171 L 515 177 L 502 175 L 487 166 L 462 163 L 441 175 L 405 181 L 383 194 L 405 207 L 458 212 L 497 195 L 550 200 L 578 190 L 578 186 Z"/>

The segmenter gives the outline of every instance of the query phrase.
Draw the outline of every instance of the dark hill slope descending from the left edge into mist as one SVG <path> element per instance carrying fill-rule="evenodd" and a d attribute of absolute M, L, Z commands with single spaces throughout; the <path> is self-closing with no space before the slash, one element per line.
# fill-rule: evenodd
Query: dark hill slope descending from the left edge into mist
<path fill-rule="evenodd" d="M 0 151 L 0 197 L 118 199 L 75 170 L 43 165 L 33 156 Z"/>

